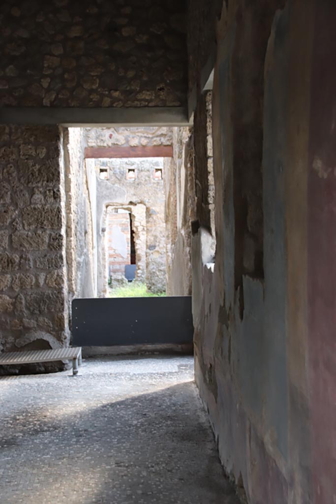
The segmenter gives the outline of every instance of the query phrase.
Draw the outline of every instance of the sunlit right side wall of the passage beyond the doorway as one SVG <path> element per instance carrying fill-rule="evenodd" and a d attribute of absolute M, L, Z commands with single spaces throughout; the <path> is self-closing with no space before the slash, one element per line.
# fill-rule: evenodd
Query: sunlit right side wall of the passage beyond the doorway
<path fill-rule="evenodd" d="M 191 295 L 191 222 L 195 216 L 193 139 L 174 128 L 174 158 L 165 160 L 167 295 Z"/>

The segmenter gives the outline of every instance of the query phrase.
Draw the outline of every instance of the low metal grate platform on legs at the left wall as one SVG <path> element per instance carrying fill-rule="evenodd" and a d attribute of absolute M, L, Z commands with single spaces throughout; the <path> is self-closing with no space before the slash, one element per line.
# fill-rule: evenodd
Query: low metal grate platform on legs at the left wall
<path fill-rule="evenodd" d="M 23 352 L 5 352 L 0 354 L 0 364 L 33 364 L 36 362 L 54 362 L 56 360 L 72 360 L 73 373 L 78 373 L 78 365 L 82 363 L 82 348 L 68 347 L 55 350 L 29 350 Z"/>

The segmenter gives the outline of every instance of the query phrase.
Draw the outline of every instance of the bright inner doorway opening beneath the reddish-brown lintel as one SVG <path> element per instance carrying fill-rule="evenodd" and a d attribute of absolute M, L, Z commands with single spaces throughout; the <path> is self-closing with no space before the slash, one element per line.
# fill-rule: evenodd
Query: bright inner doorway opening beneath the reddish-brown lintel
<path fill-rule="evenodd" d="M 88 159 L 97 184 L 98 297 L 164 295 L 167 231 L 165 159 Z M 130 285 L 134 283 L 135 285 Z"/>

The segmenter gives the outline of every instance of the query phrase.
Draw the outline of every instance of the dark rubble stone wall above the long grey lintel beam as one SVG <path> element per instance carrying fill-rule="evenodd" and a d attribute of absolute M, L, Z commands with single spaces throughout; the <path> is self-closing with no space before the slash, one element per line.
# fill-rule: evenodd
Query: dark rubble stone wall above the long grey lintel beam
<path fill-rule="evenodd" d="M 185 103 L 181 0 L 4 0 L 0 23 L 0 106 Z"/>

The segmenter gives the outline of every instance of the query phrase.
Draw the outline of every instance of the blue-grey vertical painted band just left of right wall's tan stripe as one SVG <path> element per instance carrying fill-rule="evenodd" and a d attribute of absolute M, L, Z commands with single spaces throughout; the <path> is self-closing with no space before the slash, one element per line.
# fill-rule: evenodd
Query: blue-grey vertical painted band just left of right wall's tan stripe
<path fill-rule="evenodd" d="M 288 456 L 288 382 L 286 353 L 285 166 L 288 79 L 288 10 L 274 19 L 274 41 L 265 78 L 263 139 L 264 206 L 264 360 L 265 418 L 276 432 L 277 448 Z"/>

